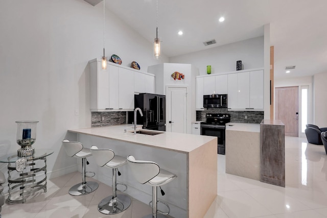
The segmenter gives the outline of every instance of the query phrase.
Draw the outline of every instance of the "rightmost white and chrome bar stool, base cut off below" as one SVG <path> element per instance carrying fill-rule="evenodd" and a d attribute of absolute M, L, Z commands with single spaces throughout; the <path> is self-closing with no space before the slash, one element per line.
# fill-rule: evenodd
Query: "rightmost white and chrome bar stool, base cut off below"
<path fill-rule="evenodd" d="M 149 202 L 150 207 L 152 207 L 152 214 L 145 216 L 144 218 L 161 218 L 167 217 L 164 215 L 169 214 L 170 208 L 166 202 L 157 201 L 157 186 L 167 184 L 171 182 L 177 176 L 161 169 L 158 164 L 152 161 L 135 160 L 133 156 L 127 157 L 128 165 L 130 166 L 135 179 L 141 184 L 148 184 L 152 186 L 152 201 Z M 161 189 L 161 187 L 160 187 Z M 161 189 L 161 194 L 165 195 L 165 192 Z M 152 206 L 151 206 L 152 202 Z M 157 202 L 165 204 L 168 207 L 168 212 L 164 213 L 157 210 Z M 157 212 L 164 215 L 157 215 Z"/>

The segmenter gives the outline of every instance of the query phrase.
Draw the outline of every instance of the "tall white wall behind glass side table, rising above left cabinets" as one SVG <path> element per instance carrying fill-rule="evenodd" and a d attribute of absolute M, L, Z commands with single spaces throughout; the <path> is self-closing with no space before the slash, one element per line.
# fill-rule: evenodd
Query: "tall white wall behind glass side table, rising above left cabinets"
<path fill-rule="evenodd" d="M 168 62 L 166 56 L 153 59 L 152 42 L 109 11 L 105 29 L 106 55 L 120 56 L 122 65 L 136 61 L 147 70 L 148 65 Z M 60 169 L 76 168 L 61 140 L 67 129 L 90 126 L 88 61 L 102 53 L 102 4 L 0 1 L 0 139 L 11 143 L 9 152 L 19 148 L 15 121 L 38 120 L 33 147 L 55 151 L 48 158 L 48 172 L 59 176 L 64 173 Z"/>

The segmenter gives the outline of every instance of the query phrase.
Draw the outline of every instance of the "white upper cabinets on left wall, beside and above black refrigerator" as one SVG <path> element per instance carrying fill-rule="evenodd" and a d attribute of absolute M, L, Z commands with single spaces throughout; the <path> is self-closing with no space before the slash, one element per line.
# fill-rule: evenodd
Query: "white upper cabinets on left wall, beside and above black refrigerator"
<path fill-rule="evenodd" d="M 154 90 L 154 75 L 108 62 L 107 69 L 101 69 L 101 60 L 90 64 L 90 109 L 91 111 L 132 111 L 134 92 Z M 136 79 L 135 79 L 136 78 Z"/>

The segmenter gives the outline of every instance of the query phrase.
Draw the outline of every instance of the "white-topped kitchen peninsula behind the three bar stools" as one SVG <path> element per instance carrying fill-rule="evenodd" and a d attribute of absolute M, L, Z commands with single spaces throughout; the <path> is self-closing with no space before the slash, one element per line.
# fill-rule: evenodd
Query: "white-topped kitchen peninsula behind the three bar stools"
<path fill-rule="evenodd" d="M 88 148 L 112 149 L 121 156 L 133 155 L 150 160 L 177 175 L 162 186 L 166 195 L 158 199 L 168 202 L 173 217 L 203 217 L 217 196 L 217 137 L 151 131 L 161 134 L 134 134 L 132 125 L 68 130 L 68 136 Z M 73 134 L 71 134 L 73 133 Z M 110 184 L 110 172 L 97 167 L 89 158 L 87 171 L 96 172 L 95 179 Z M 92 163 L 91 163 L 92 162 Z M 125 193 L 146 204 L 151 200 L 151 188 L 135 181 L 127 165 L 121 167 L 119 182 L 125 183 Z M 109 195 L 109 192 L 108 192 Z"/>

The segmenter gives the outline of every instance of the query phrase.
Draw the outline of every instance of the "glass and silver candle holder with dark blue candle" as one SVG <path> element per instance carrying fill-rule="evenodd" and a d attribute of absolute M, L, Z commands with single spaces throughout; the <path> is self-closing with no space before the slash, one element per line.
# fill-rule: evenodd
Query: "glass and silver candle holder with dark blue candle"
<path fill-rule="evenodd" d="M 16 121 L 17 137 L 16 142 L 21 147 L 17 150 L 18 157 L 27 157 L 34 154 L 34 144 L 36 140 L 36 124 L 38 121 Z"/>

